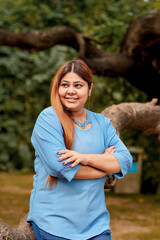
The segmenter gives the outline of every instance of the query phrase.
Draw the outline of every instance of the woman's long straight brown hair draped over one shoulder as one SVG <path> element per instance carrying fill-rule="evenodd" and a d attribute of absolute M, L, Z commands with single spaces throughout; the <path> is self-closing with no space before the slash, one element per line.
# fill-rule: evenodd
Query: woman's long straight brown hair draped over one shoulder
<path fill-rule="evenodd" d="M 92 72 L 87 64 L 80 60 L 71 60 L 64 63 L 57 71 L 56 75 L 52 79 L 51 82 L 51 105 L 57 113 L 57 116 L 62 124 L 63 131 L 64 131 L 64 142 L 67 149 L 72 148 L 73 140 L 74 140 L 74 123 L 71 118 L 71 113 L 66 110 L 60 100 L 58 89 L 60 86 L 61 79 L 69 72 L 74 72 L 79 75 L 83 80 L 88 83 L 88 87 L 90 89 L 93 83 Z M 57 183 L 57 178 L 48 175 L 47 183 L 50 186 Z"/>

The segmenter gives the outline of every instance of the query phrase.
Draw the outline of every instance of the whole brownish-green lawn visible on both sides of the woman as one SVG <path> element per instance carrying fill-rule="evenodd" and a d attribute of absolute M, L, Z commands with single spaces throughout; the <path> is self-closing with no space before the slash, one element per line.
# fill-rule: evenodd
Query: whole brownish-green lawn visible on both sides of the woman
<path fill-rule="evenodd" d="M 0 220 L 16 226 L 28 212 L 33 174 L 0 172 Z M 106 192 L 112 240 L 159 240 L 160 198 Z"/>

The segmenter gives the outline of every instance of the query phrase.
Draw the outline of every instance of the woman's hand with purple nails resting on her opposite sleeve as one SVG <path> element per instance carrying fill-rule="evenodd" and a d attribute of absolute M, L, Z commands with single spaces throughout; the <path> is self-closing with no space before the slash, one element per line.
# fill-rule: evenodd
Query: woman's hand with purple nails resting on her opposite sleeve
<path fill-rule="evenodd" d="M 81 163 L 82 165 L 87 165 L 88 164 L 88 154 L 81 154 L 72 150 L 60 150 L 58 153 L 58 155 L 63 154 L 61 157 L 58 158 L 58 161 L 62 161 L 65 160 L 66 158 L 68 158 L 66 161 L 63 162 L 63 165 L 66 165 L 68 163 L 71 163 L 71 167 L 75 167 L 76 165 L 78 165 L 79 163 Z"/>

